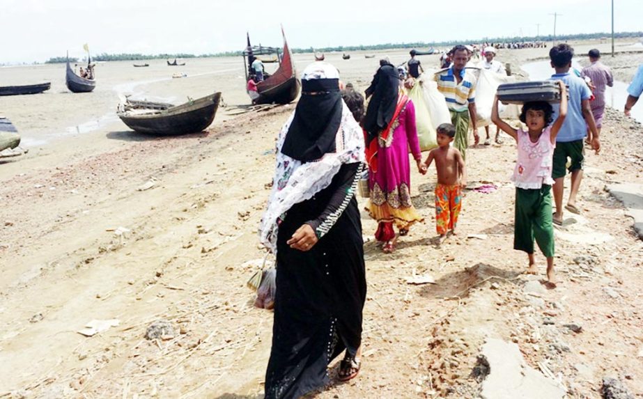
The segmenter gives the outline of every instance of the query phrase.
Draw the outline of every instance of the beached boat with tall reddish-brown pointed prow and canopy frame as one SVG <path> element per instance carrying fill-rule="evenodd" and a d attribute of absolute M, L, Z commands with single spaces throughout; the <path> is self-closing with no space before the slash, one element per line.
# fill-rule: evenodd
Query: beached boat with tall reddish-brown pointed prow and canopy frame
<path fill-rule="evenodd" d="M 247 36 L 247 47 L 243 51 L 243 61 L 245 63 L 246 81 L 250 79 L 252 61 L 256 56 L 265 56 L 276 54 L 279 61 L 277 68 L 272 75 L 264 73 L 265 79 L 257 84 L 257 93 L 259 97 L 255 104 L 288 104 L 299 95 L 301 83 L 297 79 L 295 64 L 293 63 L 293 54 L 290 53 L 288 42 L 284 29 L 281 29 L 281 36 L 284 38 L 284 49 L 275 47 L 251 46 L 250 37 Z"/>

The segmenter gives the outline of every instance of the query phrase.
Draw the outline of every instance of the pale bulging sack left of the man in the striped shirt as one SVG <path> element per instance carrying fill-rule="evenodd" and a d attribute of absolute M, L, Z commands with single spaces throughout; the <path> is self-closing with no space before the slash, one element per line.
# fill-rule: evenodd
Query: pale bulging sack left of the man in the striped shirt
<path fill-rule="evenodd" d="M 437 147 L 435 130 L 442 123 L 451 123 L 451 114 L 444 95 L 437 90 L 435 81 L 426 79 L 425 76 L 423 73 L 417 79 L 410 78 L 405 82 L 405 86 L 408 97 L 415 105 L 415 125 L 420 150 L 429 151 Z"/>

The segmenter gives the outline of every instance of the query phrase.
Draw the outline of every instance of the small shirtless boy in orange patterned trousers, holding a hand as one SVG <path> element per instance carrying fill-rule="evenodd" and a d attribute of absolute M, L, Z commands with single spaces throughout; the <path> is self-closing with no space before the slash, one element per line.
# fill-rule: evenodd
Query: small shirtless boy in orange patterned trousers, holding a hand
<path fill-rule="evenodd" d="M 458 214 L 462 208 L 462 189 L 467 186 L 465 161 L 456 148 L 449 146 L 456 136 L 456 127 L 442 123 L 437 127 L 437 148 L 428 153 L 422 166 L 422 174 L 435 159 L 437 185 L 435 186 L 435 228 L 440 235 L 440 243 L 447 233 L 456 234 Z"/>

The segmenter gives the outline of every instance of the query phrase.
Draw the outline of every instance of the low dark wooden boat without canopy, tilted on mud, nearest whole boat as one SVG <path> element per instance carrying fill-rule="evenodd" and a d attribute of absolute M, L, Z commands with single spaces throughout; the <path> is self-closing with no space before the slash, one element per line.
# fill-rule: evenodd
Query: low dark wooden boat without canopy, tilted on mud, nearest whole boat
<path fill-rule="evenodd" d="M 128 101 L 118 111 L 118 117 L 139 133 L 162 136 L 196 133 L 212 124 L 220 100 L 221 92 L 177 106 Z M 148 104 L 153 104 L 153 108 L 148 108 Z"/>

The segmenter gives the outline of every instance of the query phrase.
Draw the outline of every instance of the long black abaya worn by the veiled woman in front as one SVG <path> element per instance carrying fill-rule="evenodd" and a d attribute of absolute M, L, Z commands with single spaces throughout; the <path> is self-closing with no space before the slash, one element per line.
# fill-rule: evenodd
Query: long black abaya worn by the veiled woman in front
<path fill-rule="evenodd" d="M 359 164 L 344 164 L 331 184 L 293 205 L 279 225 L 277 292 L 265 399 L 290 399 L 329 381 L 327 366 L 362 343 L 366 299 L 362 222 L 355 187 Z M 320 237 L 309 251 L 286 241 L 302 224 Z"/>

